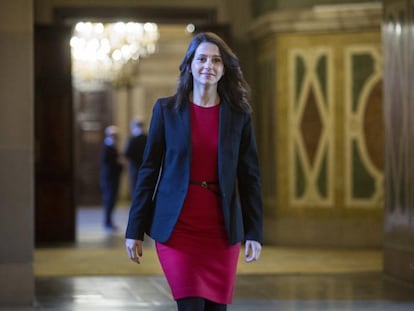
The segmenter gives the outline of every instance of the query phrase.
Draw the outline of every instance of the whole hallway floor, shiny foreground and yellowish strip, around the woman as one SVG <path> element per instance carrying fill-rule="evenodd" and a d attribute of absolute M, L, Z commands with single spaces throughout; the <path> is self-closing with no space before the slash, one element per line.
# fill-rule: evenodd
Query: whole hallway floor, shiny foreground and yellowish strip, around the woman
<path fill-rule="evenodd" d="M 126 217 L 118 208 L 121 228 Z M 34 307 L 0 310 L 175 310 L 151 242 L 137 267 L 124 253 L 123 232 L 105 234 L 100 220 L 100 209 L 79 209 L 76 245 L 35 251 Z M 414 290 L 384 280 L 381 267 L 379 251 L 265 247 L 261 261 L 240 263 L 228 310 L 414 310 Z"/>

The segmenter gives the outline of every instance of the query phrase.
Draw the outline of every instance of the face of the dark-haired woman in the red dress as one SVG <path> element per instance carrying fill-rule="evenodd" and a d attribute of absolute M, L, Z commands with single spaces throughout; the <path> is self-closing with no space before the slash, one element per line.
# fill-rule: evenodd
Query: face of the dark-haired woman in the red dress
<path fill-rule="evenodd" d="M 223 59 L 217 45 L 203 42 L 197 47 L 191 62 L 191 73 L 194 84 L 217 85 L 224 74 Z"/>

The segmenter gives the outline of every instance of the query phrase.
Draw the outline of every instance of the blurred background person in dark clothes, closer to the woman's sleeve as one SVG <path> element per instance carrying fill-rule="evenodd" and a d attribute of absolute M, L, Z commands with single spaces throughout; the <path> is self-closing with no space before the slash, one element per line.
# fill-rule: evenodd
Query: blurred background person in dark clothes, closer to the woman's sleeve
<path fill-rule="evenodd" d="M 124 156 L 128 160 L 129 185 L 131 195 L 134 193 L 138 170 L 142 163 L 147 135 L 144 132 L 144 124 L 138 119 L 130 122 L 131 136 L 125 146 Z"/>

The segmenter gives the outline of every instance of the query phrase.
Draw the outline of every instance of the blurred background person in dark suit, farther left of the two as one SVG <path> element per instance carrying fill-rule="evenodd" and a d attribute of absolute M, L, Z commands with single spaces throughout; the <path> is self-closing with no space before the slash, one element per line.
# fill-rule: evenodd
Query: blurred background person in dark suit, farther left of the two
<path fill-rule="evenodd" d="M 122 159 L 117 149 L 118 129 L 111 125 L 105 129 L 105 139 L 102 144 L 101 163 L 101 189 L 104 205 L 104 227 L 108 231 L 116 230 L 112 221 L 112 214 L 118 198 L 119 182 L 122 172 Z"/>

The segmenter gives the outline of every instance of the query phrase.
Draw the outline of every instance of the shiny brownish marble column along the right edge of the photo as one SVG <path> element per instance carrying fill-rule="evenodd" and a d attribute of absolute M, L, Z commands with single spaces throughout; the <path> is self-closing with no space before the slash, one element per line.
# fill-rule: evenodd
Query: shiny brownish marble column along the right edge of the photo
<path fill-rule="evenodd" d="M 414 1 L 384 1 L 384 273 L 414 284 Z"/>

